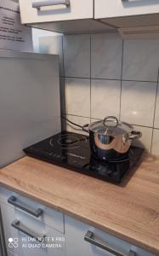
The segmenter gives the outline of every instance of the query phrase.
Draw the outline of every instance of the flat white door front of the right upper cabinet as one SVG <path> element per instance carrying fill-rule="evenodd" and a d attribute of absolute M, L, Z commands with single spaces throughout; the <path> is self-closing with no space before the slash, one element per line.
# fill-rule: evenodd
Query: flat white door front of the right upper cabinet
<path fill-rule="evenodd" d="M 94 0 L 95 19 L 159 13 L 159 0 Z"/>

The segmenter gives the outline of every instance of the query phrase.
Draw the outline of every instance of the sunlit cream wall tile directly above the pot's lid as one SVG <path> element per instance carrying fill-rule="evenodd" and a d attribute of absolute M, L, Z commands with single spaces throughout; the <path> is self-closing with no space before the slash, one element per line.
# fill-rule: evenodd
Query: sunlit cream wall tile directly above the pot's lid
<path fill-rule="evenodd" d="M 119 117 L 121 81 L 92 79 L 91 117 L 104 119 L 108 115 Z"/>

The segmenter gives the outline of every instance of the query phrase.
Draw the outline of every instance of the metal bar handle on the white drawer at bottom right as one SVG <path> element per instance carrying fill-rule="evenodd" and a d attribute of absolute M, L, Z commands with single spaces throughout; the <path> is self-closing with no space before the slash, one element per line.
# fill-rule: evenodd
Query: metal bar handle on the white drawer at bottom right
<path fill-rule="evenodd" d="M 109 245 L 105 244 L 105 241 L 99 240 L 99 238 L 97 238 L 93 232 L 88 231 L 87 234 L 84 236 L 84 240 L 90 242 L 91 244 L 93 244 L 96 247 L 99 247 L 101 249 L 104 249 L 106 252 L 112 253 L 116 256 L 126 256 L 123 253 L 120 253 L 118 251 L 116 251 L 116 249 L 110 247 Z M 136 253 L 134 253 L 133 251 L 130 251 L 128 253 L 128 256 L 136 256 Z"/>

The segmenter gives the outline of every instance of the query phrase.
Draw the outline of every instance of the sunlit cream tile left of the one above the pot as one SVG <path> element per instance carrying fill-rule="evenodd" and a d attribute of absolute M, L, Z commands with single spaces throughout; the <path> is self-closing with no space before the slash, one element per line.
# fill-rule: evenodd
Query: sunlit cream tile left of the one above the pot
<path fill-rule="evenodd" d="M 65 112 L 90 116 L 90 79 L 65 79 Z"/>

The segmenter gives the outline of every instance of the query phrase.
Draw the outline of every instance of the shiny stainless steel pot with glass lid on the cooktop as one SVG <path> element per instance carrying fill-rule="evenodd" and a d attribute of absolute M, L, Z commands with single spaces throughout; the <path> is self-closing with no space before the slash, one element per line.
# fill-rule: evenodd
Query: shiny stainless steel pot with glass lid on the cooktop
<path fill-rule="evenodd" d="M 122 159 L 130 148 L 131 141 L 142 137 L 133 126 L 108 116 L 90 125 L 83 125 L 83 131 L 89 132 L 90 148 L 99 160 Z"/>

